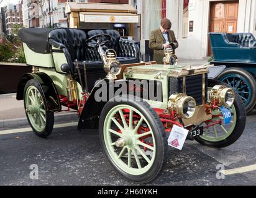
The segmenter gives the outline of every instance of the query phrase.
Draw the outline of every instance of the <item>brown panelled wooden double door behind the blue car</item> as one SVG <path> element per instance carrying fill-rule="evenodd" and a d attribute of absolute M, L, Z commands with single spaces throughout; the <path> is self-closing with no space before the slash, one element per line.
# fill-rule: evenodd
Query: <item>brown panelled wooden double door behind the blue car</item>
<path fill-rule="evenodd" d="M 237 32 L 239 1 L 214 1 L 210 4 L 209 32 Z M 212 56 L 211 43 L 208 56 Z"/>

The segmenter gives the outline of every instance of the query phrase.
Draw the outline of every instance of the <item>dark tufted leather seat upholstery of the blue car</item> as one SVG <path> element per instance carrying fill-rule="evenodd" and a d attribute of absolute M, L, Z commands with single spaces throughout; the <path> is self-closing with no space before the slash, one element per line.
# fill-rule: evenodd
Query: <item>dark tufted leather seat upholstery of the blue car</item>
<path fill-rule="evenodd" d="M 252 33 L 227 33 L 227 40 L 231 43 L 238 43 L 242 47 L 255 47 L 256 40 Z"/>

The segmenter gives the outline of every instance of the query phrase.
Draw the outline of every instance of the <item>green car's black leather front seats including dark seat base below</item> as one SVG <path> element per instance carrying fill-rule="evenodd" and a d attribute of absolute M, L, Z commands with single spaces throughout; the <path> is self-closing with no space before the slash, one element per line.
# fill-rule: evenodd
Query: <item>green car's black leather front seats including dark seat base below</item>
<path fill-rule="evenodd" d="M 78 79 L 75 60 L 78 60 L 80 72 L 83 75 L 83 62 L 86 62 L 89 91 L 94 87 L 94 82 L 98 79 L 106 77 L 104 72 L 103 61 L 96 48 L 88 48 L 86 40 L 89 37 L 100 33 L 107 33 L 111 35 L 112 39 L 103 46 L 103 49 L 115 49 L 117 52 L 117 60 L 121 64 L 129 64 L 139 62 L 139 47 L 135 45 L 134 41 L 124 40 L 115 30 L 91 30 L 88 35 L 83 30 L 71 28 L 59 28 L 50 31 L 48 35 L 48 43 L 51 46 L 62 49 L 68 64 L 71 66 L 71 73 Z"/>

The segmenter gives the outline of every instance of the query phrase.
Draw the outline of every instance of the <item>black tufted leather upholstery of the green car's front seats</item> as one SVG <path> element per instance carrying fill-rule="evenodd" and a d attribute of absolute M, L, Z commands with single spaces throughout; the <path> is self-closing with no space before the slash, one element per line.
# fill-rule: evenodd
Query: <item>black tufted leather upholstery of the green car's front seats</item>
<path fill-rule="evenodd" d="M 101 56 L 98 53 L 98 49 L 88 48 L 85 45 L 85 41 L 89 37 L 101 33 L 111 35 L 111 41 L 106 46 L 103 46 L 103 49 L 115 49 L 118 56 L 117 59 L 119 59 L 121 63 L 123 63 L 122 61 L 124 61 L 125 64 L 129 61 L 130 63 L 139 62 L 139 46 L 137 46 L 134 41 L 120 38 L 116 30 L 91 30 L 88 32 L 88 36 L 86 36 L 83 30 L 60 28 L 52 30 L 49 33 L 49 43 L 53 46 L 58 43 L 57 47 L 60 45 L 62 45 L 63 48 L 65 47 L 71 56 L 72 62 L 78 59 L 80 62 L 89 61 L 89 64 L 94 65 L 101 61 Z"/>

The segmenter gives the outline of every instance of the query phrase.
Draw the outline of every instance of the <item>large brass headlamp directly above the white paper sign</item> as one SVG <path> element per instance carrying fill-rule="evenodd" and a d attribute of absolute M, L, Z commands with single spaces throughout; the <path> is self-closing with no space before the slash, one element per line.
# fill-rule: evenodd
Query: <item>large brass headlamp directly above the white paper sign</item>
<path fill-rule="evenodd" d="M 182 118 L 190 119 L 196 111 L 196 101 L 185 93 L 175 93 L 169 98 L 168 110 L 175 111 Z"/>

